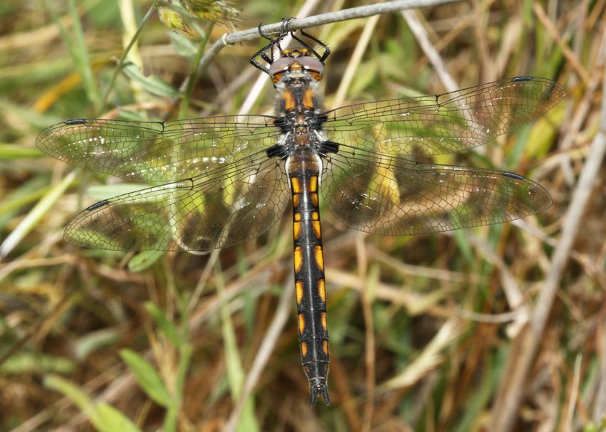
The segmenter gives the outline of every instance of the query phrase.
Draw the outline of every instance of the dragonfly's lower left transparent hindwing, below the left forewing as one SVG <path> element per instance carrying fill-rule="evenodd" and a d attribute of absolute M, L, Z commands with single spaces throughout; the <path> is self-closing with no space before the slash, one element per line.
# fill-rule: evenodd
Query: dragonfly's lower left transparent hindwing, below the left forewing
<path fill-rule="evenodd" d="M 118 251 L 205 251 L 251 240 L 282 216 L 282 167 L 265 154 L 101 201 L 66 228 L 68 243 Z"/>

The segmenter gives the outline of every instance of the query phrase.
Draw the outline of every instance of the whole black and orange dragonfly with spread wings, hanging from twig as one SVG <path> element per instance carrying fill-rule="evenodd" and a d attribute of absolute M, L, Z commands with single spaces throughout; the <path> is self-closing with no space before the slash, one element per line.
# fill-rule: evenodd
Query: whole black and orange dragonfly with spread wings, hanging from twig
<path fill-rule="evenodd" d="M 225 248 L 274 226 L 290 201 L 299 349 L 314 406 L 320 398 L 330 403 L 319 196 L 346 226 L 384 236 L 491 225 L 548 209 L 548 191 L 519 174 L 423 158 L 486 144 L 543 115 L 565 92 L 553 80 L 522 76 L 325 110 L 319 84 L 329 48 L 295 33 L 262 35 L 269 43 L 250 60 L 277 91 L 274 115 L 68 120 L 41 132 L 36 145 L 76 167 L 155 184 L 81 211 L 64 235 L 78 246 Z M 288 34 L 298 48 L 279 46 Z"/>

